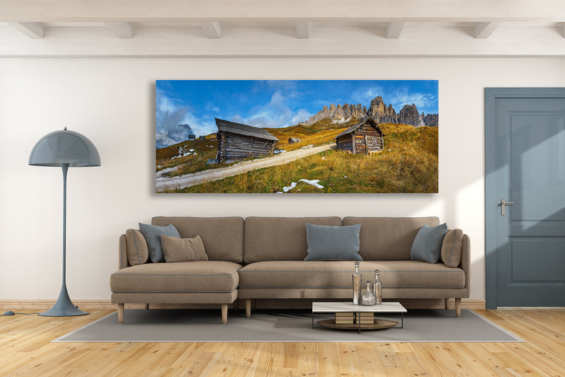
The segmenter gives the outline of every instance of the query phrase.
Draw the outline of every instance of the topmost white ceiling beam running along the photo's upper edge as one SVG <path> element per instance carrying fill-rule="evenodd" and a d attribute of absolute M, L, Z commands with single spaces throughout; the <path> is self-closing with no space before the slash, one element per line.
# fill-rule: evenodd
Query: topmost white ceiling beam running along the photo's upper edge
<path fill-rule="evenodd" d="M 247 21 L 300 19 L 323 22 L 366 20 L 388 21 L 505 21 L 511 18 L 563 22 L 563 0 L 2 0 L 2 21 Z M 386 22 L 386 21 L 384 21 Z"/>

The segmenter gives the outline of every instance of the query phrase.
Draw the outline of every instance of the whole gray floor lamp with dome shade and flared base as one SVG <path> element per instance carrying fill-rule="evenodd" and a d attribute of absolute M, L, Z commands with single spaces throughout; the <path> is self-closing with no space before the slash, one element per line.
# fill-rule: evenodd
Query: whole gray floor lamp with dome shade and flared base
<path fill-rule="evenodd" d="M 69 166 L 100 166 L 100 155 L 92 141 L 65 127 L 63 131 L 52 132 L 37 141 L 30 153 L 29 164 L 60 167 L 63 170 L 63 284 L 57 302 L 40 315 L 67 317 L 88 314 L 74 306 L 66 290 L 66 172 Z"/>

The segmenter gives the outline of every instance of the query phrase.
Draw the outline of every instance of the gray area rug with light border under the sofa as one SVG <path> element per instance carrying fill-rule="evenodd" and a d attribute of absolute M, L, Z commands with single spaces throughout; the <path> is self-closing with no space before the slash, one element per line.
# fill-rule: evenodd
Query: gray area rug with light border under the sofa
<path fill-rule="evenodd" d="M 315 321 L 333 318 L 316 314 Z M 400 315 L 380 316 L 398 320 Z M 220 311 L 126 309 L 124 324 L 116 313 L 63 335 L 53 342 L 523 342 L 473 311 L 410 310 L 404 327 L 386 330 L 312 328 L 309 311 Z"/>

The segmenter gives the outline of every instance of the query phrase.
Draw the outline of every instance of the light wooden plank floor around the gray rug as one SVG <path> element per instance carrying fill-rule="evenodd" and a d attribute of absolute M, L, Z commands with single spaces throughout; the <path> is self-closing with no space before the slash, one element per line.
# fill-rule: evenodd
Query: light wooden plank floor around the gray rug
<path fill-rule="evenodd" d="M 565 376 L 565 308 L 477 311 L 525 343 L 49 343 L 109 313 L 1 316 L 0 376 Z"/>

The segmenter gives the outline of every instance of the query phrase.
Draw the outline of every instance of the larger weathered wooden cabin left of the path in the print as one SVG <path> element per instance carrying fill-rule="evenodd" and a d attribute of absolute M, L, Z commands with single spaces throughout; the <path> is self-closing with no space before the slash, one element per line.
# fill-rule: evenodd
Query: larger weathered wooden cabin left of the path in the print
<path fill-rule="evenodd" d="M 218 127 L 218 163 L 270 156 L 279 141 L 266 129 L 215 118 Z"/>

